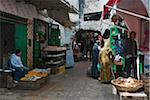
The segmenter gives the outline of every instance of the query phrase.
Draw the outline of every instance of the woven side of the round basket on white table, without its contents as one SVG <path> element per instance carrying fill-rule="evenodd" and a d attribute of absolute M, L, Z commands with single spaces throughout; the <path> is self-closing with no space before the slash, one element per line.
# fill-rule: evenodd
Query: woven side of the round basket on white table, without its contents
<path fill-rule="evenodd" d="M 143 83 L 140 83 L 138 84 L 137 86 L 135 87 L 121 87 L 121 86 L 118 86 L 116 83 L 115 83 L 115 80 L 112 80 L 111 83 L 117 88 L 118 91 L 125 91 L 125 92 L 136 92 L 138 91 L 140 88 L 143 87 Z"/>

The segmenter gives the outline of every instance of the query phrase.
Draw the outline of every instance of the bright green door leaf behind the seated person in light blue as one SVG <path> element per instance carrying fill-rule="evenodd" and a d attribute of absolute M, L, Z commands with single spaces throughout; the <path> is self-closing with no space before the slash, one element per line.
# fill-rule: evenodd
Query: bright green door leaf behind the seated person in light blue
<path fill-rule="evenodd" d="M 16 23 L 15 25 L 15 49 L 22 51 L 22 61 L 27 63 L 27 25 Z"/>

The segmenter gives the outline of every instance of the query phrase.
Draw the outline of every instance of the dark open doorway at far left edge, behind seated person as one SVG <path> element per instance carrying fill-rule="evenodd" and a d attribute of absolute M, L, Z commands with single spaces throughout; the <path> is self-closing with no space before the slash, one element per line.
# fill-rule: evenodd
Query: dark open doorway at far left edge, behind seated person
<path fill-rule="evenodd" d="M 0 22 L 0 66 L 5 68 L 9 59 L 9 53 L 14 49 L 15 25 Z"/>

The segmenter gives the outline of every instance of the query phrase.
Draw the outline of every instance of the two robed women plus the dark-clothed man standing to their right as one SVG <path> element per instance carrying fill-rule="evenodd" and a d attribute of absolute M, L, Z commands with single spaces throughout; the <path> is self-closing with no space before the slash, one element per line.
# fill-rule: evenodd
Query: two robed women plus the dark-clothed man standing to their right
<path fill-rule="evenodd" d="M 110 30 L 106 29 L 103 36 L 99 34 L 92 49 L 91 76 L 101 82 L 110 82 L 112 78 L 117 78 L 113 71 L 115 55 L 110 48 Z M 129 33 L 129 38 L 123 40 L 123 58 L 125 61 L 124 74 L 119 77 L 130 77 L 133 68 L 134 78 L 137 79 L 137 43 L 136 33 Z M 123 61 L 122 61 L 123 62 Z M 98 67 L 100 65 L 100 67 Z M 132 67 L 131 67 L 132 66 Z"/>

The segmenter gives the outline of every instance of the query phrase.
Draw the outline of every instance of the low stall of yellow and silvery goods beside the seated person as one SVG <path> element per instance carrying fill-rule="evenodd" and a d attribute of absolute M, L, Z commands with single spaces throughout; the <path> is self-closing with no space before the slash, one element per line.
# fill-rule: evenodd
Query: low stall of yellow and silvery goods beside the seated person
<path fill-rule="evenodd" d="M 29 71 L 19 80 L 18 87 L 30 90 L 42 87 L 49 80 L 50 70 L 35 68 Z"/>

